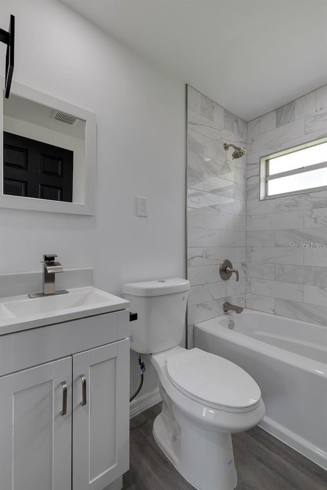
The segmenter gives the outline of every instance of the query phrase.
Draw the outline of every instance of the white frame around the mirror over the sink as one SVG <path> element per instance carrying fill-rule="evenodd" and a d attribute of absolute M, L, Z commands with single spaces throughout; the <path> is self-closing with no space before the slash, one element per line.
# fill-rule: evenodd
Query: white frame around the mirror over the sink
<path fill-rule="evenodd" d="M 4 87 L 5 79 L 0 77 L 1 87 Z M 97 173 L 97 117 L 93 112 L 86 111 L 51 95 L 34 90 L 26 85 L 13 82 L 10 92 L 24 99 L 72 114 L 85 121 L 85 203 L 68 203 L 63 201 L 50 201 L 22 197 L 19 195 L 4 194 L 4 89 L 0 94 L 0 207 L 11 209 L 24 209 L 28 211 L 46 211 L 52 213 L 68 214 L 96 214 L 96 173 Z"/>

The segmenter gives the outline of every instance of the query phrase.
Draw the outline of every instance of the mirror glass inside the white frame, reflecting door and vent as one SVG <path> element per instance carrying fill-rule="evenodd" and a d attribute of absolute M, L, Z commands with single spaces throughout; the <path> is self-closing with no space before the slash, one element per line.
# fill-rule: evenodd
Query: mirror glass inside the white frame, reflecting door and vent
<path fill-rule="evenodd" d="M 4 194 L 85 203 L 85 121 L 11 95 L 4 99 Z"/>

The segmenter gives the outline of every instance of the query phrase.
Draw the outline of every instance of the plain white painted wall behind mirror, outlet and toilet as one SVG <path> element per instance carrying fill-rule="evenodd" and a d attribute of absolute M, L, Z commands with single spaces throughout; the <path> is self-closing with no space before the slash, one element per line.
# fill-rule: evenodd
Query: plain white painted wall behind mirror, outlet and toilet
<path fill-rule="evenodd" d="M 14 80 L 97 114 L 97 215 L 1 209 L 0 272 L 38 271 L 53 251 L 66 268 L 94 267 L 95 285 L 117 294 L 126 281 L 183 276 L 184 84 L 55 0 L 2 2 L 2 28 L 10 13 Z M 149 198 L 148 218 L 136 217 L 136 195 Z M 132 365 L 131 390 L 136 356 Z M 148 366 L 140 395 L 156 384 Z"/>

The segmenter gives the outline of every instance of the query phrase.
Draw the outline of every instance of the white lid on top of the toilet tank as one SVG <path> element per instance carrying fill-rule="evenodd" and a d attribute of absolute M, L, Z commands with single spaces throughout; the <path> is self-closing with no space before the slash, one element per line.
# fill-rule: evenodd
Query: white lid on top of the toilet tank
<path fill-rule="evenodd" d="M 131 282 L 124 284 L 123 292 L 131 296 L 164 296 L 175 292 L 188 291 L 190 282 L 187 279 L 158 279 L 156 281 Z"/>

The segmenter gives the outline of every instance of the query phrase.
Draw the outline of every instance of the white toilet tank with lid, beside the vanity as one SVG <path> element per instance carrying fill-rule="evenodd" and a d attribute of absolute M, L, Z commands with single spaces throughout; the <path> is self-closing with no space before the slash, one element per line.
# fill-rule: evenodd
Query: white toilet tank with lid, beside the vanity
<path fill-rule="evenodd" d="M 130 348 L 154 354 L 178 346 L 185 327 L 190 282 L 186 279 L 124 284 L 125 298 L 137 320 L 130 323 Z"/>

